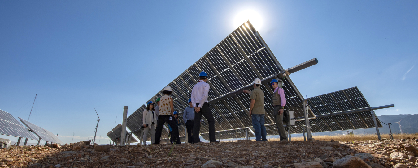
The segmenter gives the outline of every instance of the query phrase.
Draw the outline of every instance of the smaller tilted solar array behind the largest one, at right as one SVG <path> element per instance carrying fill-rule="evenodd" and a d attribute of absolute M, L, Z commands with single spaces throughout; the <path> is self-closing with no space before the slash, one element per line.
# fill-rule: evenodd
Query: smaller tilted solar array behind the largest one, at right
<path fill-rule="evenodd" d="M 357 113 L 347 113 L 343 115 L 321 116 L 348 110 L 361 110 L 370 108 L 367 100 L 364 98 L 357 87 L 339 90 L 308 99 L 309 107 L 316 115 L 316 118 L 309 119 L 309 124 L 313 133 L 375 128 L 373 115 L 370 113 L 370 110 L 365 110 Z M 305 126 L 305 120 L 296 121 L 296 125 L 290 128 L 290 132 L 303 133 L 303 126 Z M 382 127 L 380 122 L 377 122 L 377 126 Z M 274 123 L 266 123 L 265 127 L 267 130 L 267 135 L 278 135 L 278 130 Z M 250 129 L 254 131 L 253 128 Z M 237 138 L 245 138 L 245 129 L 242 129 L 241 131 L 243 134 L 234 134 L 234 136 Z M 215 134 L 217 135 L 217 133 Z M 228 134 L 230 134 L 228 131 L 222 131 L 221 139 L 231 138 L 231 136 L 227 136 Z M 207 138 L 209 135 L 206 133 L 202 136 Z M 254 137 L 254 135 L 249 134 L 249 137 Z"/>

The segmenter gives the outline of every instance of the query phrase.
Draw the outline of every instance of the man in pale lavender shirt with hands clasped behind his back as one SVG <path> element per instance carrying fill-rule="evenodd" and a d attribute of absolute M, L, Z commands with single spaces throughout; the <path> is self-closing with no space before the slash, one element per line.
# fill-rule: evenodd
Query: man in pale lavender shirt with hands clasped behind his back
<path fill-rule="evenodd" d="M 193 142 L 200 142 L 199 131 L 200 131 L 200 119 L 202 115 L 206 118 L 209 124 L 209 142 L 217 142 L 215 138 L 215 119 L 213 118 L 212 110 L 209 108 L 208 95 L 209 95 L 209 84 L 206 83 L 208 75 L 202 71 L 199 74 L 199 83 L 193 86 L 191 90 L 191 103 L 194 107 L 194 122 L 193 125 Z"/>

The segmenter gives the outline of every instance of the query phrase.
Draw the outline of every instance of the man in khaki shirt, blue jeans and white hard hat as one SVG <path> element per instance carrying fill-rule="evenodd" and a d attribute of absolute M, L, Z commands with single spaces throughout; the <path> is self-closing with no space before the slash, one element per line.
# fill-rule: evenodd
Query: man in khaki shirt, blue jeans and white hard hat
<path fill-rule="evenodd" d="M 255 78 L 252 91 L 244 90 L 244 93 L 250 94 L 250 117 L 252 128 L 255 131 L 255 141 L 267 141 L 267 131 L 264 126 L 264 92 L 260 89 L 261 80 Z"/>

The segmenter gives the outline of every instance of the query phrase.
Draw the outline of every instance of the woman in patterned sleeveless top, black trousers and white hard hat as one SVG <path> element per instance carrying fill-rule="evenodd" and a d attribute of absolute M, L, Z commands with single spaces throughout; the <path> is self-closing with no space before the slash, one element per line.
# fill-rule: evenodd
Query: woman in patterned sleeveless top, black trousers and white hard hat
<path fill-rule="evenodd" d="M 174 106 L 173 106 L 173 98 L 171 98 L 171 93 L 173 90 L 170 86 L 166 86 L 163 89 L 163 96 L 160 98 L 160 110 L 158 114 L 158 126 L 155 129 L 155 144 L 160 143 L 161 139 L 161 132 L 163 131 L 164 123 L 167 123 L 171 126 L 173 131 L 171 131 L 171 136 L 173 136 L 173 140 L 177 144 L 181 144 L 180 137 L 178 136 L 178 126 L 176 121 L 174 120 Z"/>

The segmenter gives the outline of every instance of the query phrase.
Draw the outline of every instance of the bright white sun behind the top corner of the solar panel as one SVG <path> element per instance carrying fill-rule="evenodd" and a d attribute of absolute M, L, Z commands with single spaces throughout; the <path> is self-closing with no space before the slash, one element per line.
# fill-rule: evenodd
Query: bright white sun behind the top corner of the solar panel
<path fill-rule="evenodd" d="M 257 11 L 247 9 L 242 10 L 234 18 L 234 28 L 239 27 L 245 21 L 250 20 L 251 24 L 256 30 L 259 30 L 263 26 L 263 18 Z"/>

